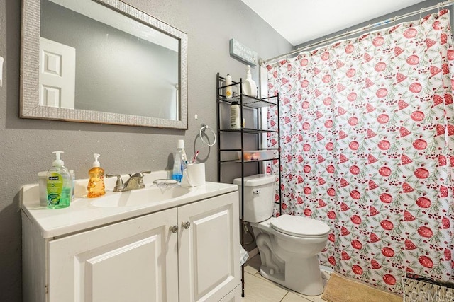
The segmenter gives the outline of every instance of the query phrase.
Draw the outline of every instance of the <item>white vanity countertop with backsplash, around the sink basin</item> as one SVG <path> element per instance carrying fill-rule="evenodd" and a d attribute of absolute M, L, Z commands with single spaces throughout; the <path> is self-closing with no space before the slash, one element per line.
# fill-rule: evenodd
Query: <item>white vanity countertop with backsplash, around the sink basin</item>
<path fill-rule="evenodd" d="M 150 178 L 145 178 L 146 187 L 153 186 Z M 157 179 L 157 178 L 154 178 Z M 87 185 L 88 180 L 77 180 L 77 186 L 83 187 Z M 155 211 L 178 207 L 182 204 L 196 202 L 198 200 L 207 199 L 210 197 L 234 192 L 238 190 L 237 185 L 206 182 L 206 185 L 200 187 L 187 187 L 189 192 L 180 197 L 167 199 L 160 202 L 143 203 L 125 207 L 97 207 L 94 205 L 96 199 L 102 198 L 87 198 L 82 197 L 83 194 L 76 194 L 74 201 L 70 207 L 65 209 L 48 209 L 41 207 L 39 202 L 39 187 L 38 184 L 24 185 L 21 190 L 21 209 L 23 214 L 28 216 L 33 224 L 40 229 L 43 238 L 52 238 L 64 236 L 69 233 L 83 231 L 88 228 L 94 228 L 116 221 L 131 219 L 136 216 L 150 214 Z M 111 182 L 106 182 L 106 195 L 124 194 L 121 192 L 113 192 Z M 79 196 L 79 197 L 78 197 Z"/>

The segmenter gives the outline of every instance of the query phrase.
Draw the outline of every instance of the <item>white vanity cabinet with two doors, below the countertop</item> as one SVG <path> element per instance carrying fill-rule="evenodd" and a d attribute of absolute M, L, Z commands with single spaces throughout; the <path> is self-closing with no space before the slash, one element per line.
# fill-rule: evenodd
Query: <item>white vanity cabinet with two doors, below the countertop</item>
<path fill-rule="evenodd" d="M 50 238 L 33 211 L 23 301 L 240 301 L 237 191 Z"/>

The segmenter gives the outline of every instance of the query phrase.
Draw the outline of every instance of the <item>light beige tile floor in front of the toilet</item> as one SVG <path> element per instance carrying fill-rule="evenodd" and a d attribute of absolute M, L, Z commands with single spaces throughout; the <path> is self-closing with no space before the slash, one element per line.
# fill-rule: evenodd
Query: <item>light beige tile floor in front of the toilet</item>
<path fill-rule="evenodd" d="M 245 296 L 242 302 L 326 302 L 320 296 L 304 296 L 296 293 L 282 285 L 263 278 L 258 271 L 260 269 L 260 255 L 255 255 L 248 259 L 244 267 Z M 331 272 L 321 270 L 323 285 L 326 285 Z"/>

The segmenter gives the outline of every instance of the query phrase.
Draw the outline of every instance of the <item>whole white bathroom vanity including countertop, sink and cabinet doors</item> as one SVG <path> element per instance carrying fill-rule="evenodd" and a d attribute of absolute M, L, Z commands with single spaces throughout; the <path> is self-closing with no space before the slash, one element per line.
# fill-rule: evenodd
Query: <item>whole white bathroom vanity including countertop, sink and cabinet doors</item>
<path fill-rule="evenodd" d="M 24 186 L 23 301 L 240 301 L 237 190 L 146 185 L 46 209 Z"/>

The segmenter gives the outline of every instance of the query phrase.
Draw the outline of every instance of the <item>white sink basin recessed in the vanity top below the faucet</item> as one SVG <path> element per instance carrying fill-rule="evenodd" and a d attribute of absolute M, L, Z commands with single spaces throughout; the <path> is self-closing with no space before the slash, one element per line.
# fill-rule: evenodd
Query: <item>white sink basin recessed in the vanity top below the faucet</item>
<path fill-rule="evenodd" d="M 189 193 L 185 187 L 145 187 L 144 189 L 126 192 L 108 192 L 105 196 L 93 199 L 95 207 L 131 207 L 142 204 L 153 204 L 182 197 Z"/>

